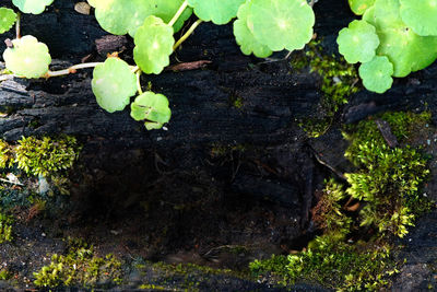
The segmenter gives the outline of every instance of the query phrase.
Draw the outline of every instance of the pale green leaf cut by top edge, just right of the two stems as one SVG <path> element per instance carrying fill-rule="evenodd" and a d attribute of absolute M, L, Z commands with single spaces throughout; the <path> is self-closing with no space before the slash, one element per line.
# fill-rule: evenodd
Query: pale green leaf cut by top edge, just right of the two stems
<path fill-rule="evenodd" d="M 238 8 L 244 2 L 245 0 L 188 0 L 199 19 L 215 24 L 228 23 L 237 15 Z"/>

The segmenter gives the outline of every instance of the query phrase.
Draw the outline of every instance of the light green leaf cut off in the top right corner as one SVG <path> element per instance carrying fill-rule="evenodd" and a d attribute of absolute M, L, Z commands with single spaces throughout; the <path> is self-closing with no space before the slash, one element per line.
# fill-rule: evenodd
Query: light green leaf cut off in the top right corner
<path fill-rule="evenodd" d="M 437 0 L 400 0 L 401 17 L 422 36 L 437 35 Z"/>

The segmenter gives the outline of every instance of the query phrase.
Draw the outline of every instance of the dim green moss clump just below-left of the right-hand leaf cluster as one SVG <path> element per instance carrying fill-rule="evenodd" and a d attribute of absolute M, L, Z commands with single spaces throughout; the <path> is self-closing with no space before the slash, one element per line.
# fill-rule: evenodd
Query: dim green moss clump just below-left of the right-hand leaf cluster
<path fill-rule="evenodd" d="M 310 72 L 321 77 L 320 90 L 323 96 L 319 108 L 315 110 L 317 116 L 299 121 L 309 137 L 319 137 L 328 130 L 340 106 L 347 103 L 349 96 L 358 92 L 358 73 L 342 57 L 326 55 L 318 40 L 307 44 L 304 56 L 297 54 L 292 60 L 292 67 L 297 70 L 309 67 Z"/>

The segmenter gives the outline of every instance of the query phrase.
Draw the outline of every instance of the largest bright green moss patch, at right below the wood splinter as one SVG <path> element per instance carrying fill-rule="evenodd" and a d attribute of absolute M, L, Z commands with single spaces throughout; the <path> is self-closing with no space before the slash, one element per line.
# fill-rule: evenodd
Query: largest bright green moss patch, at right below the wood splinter
<path fill-rule="evenodd" d="M 418 188 L 429 174 L 426 157 L 405 144 L 416 127 L 429 122 L 429 113 L 386 113 L 378 118 L 388 121 L 400 147 L 389 148 L 373 119 L 347 127 L 351 141 L 345 156 L 358 171 L 345 174 L 351 187 L 347 194 L 363 202 L 361 225 L 377 227 L 381 235 L 404 236 L 414 218 L 433 203 Z"/>

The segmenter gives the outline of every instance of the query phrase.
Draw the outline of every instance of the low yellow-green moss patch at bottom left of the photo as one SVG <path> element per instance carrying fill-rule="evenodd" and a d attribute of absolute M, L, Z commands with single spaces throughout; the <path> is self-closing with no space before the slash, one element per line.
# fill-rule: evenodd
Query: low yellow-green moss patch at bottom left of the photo
<path fill-rule="evenodd" d="M 38 288 L 114 285 L 121 283 L 121 262 L 113 255 L 101 258 L 82 241 L 70 243 L 66 256 L 52 255 L 51 262 L 34 272 Z"/>

